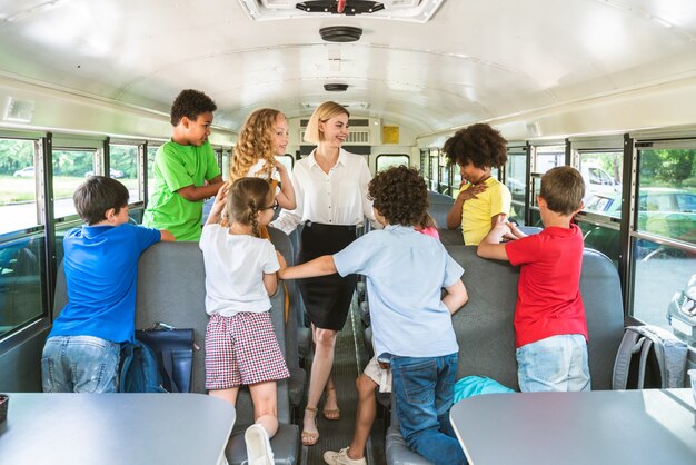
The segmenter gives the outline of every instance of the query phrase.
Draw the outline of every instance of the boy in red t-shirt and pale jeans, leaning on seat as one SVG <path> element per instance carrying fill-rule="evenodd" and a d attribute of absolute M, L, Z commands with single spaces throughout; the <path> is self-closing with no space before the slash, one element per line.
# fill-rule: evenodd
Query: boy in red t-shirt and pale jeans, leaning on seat
<path fill-rule="evenodd" d="M 498 221 L 479 244 L 484 258 L 520 265 L 515 334 L 523 392 L 589 390 L 587 323 L 580 296 L 583 231 L 571 224 L 585 184 L 571 167 L 548 170 L 537 196 L 544 230 L 525 236 Z M 501 239 L 510 240 L 499 244 Z"/>

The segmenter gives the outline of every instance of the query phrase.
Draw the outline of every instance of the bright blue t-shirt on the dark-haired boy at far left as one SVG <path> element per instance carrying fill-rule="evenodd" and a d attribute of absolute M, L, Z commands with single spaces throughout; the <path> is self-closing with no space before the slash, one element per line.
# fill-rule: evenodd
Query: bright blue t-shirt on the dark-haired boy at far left
<path fill-rule="evenodd" d="M 70 229 L 63 239 L 68 305 L 49 337 L 132 340 L 138 259 L 159 240 L 158 229 L 129 224 Z"/>

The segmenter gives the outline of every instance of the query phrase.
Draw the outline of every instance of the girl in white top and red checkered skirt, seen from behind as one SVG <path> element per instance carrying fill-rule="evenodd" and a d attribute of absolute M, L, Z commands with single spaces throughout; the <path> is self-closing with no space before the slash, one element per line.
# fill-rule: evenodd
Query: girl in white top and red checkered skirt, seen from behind
<path fill-rule="evenodd" d="M 246 434 L 249 463 L 272 464 L 278 429 L 276 382 L 289 376 L 271 325 L 270 297 L 285 260 L 260 230 L 278 202 L 268 181 L 240 178 L 218 191 L 203 226 L 206 266 L 206 388 L 235 405 L 248 385 L 256 423 Z M 226 212 L 228 224 L 220 219 Z"/>

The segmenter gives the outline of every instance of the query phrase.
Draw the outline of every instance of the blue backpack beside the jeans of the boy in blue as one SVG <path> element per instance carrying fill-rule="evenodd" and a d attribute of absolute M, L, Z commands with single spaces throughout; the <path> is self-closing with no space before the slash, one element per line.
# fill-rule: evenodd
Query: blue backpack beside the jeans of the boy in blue
<path fill-rule="evenodd" d="M 119 393 L 166 393 L 155 352 L 135 339 L 121 348 Z"/>

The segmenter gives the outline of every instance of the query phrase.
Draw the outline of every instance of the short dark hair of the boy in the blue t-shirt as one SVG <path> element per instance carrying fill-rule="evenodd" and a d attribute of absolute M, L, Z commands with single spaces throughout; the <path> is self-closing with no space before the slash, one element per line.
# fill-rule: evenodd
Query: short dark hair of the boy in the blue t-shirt
<path fill-rule="evenodd" d="M 128 205 L 128 189 L 116 179 L 90 176 L 72 195 L 78 215 L 88 225 L 107 219 L 107 210 L 118 214 Z"/>

